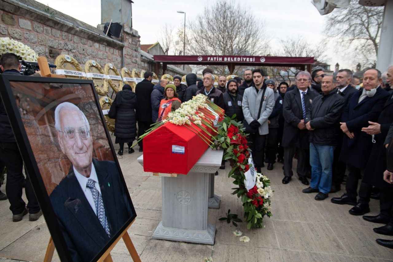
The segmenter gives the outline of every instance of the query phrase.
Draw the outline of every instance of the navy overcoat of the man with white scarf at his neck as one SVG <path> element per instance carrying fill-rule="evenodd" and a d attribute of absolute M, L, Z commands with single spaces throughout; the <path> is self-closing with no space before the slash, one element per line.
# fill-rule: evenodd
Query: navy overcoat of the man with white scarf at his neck
<path fill-rule="evenodd" d="M 349 98 L 341 118 L 341 122 L 347 123 L 348 130 L 354 133 L 354 138 L 350 139 L 347 135 L 344 135 L 340 161 L 351 164 L 356 168 L 365 168 L 373 144 L 371 135 L 362 132 L 362 127 L 369 126 L 368 121 L 377 122 L 389 97 L 388 92 L 378 87 L 373 97 L 366 96 L 358 103 L 362 92 L 363 89 L 360 89 Z"/>

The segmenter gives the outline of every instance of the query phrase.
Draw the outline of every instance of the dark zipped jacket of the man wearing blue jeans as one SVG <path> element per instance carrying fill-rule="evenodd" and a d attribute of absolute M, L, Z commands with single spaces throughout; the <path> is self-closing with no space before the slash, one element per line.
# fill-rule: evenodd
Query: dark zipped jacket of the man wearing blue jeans
<path fill-rule="evenodd" d="M 306 113 L 305 123 L 310 122 L 314 130 L 309 131 L 310 142 L 318 145 L 337 146 L 340 142 L 340 118 L 344 99 L 333 89 L 329 94 L 314 98 Z"/>

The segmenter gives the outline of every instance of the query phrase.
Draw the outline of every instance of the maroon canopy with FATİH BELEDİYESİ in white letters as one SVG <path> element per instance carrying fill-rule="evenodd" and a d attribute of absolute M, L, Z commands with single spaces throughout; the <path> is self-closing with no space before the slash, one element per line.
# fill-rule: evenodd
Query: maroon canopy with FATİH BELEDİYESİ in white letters
<path fill-rule="evenodd" d="M 249 55 L 154 55 L 156 74 L 162 63 L 162 74 L 167 65 L 226 65 L 233 74 L 235 66 L 285 66 L 300 67 L 311 73 L 314 57 L 249 56 Z"/>

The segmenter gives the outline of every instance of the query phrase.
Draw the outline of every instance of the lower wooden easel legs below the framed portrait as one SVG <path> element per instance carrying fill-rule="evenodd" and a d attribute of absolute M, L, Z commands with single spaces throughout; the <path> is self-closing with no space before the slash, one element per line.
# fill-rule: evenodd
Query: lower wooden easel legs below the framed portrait
<path fill-rule="evenodd" d="M 128 251 L 130 252 L 131 258 L 134 262 L 141 262 L 141 259 L 139 258 L 138 252 L 136 252 L 136 249 L 134 247 L 134 244 L 132 244 L 130 235 L 128 234 L 127 230 L 130 228 L 132 223 L 134 223 L 135 220 L 132 220 L 132 222 L 124 229 L 123 232 L 116 238 L 116 240 L 113 242 L 112 245 L 105 251 L 105 253 L 97 260 L 97 262 L 113 262 L 112 256 L 110 256 L 110 251 L 115 247 L 116 244 L 118 244 L 119 240 L 123 238 L 123 241 L 125 243 L 125 246 L 127 247 Z M 45 253 L 45 258 L 44 262 L 50 262 L 52 261 L 53 253 L 55 252 L 55 244 L 53 244 L 52 237 L 49 238 L 49 243 L 48 247 L 46 248 L 46 253 Z"/>

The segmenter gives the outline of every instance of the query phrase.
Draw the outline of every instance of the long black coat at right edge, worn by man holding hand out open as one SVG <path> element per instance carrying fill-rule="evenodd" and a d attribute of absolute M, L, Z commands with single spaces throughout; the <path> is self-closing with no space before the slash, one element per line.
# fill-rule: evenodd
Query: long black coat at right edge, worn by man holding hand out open
<path fill-rule="evenodd" d="M 371 154 L 364 172 L 363 182 L 376 187 L 392 187 L 383 179 L 386 170 L 386 149 L 385 142 L 389 127 L 393 123 L 393 96 L 389 96 L 381 114 L 378 117 L 378 124 L 381 125 L 381 133 L 375 135 L 375 144 L 371 148 Z"/>

